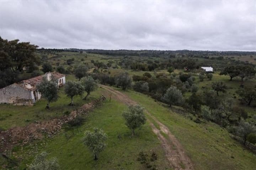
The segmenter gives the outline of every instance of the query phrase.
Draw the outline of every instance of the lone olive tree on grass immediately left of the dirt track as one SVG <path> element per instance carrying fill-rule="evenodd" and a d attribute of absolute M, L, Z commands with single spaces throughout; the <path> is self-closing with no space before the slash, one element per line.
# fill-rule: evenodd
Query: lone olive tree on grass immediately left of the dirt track
<path fill-rule="evenodd" d="M 123 117 L 126 121 L 125 124 L 132 130 L 132 135 L 134 135 L 134 130 L 136 128 L 139 128 L 146 123 L 146 117 L 143 111 L 144 108 L 136 104 L 129 106 L 128 110 L 123 112 Z"/>

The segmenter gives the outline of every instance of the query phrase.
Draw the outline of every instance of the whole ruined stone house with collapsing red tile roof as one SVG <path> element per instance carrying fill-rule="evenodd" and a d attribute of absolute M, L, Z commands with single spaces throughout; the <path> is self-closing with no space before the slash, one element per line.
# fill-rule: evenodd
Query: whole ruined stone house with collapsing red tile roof
<path fill-rule="evenodd" d="M 63 86 L 66 82 L 65 75 L 58 72 L 48 72 L 44 75 L 23 80 L 19 83 L 14 83 L 0 89 L 0 103 L 9 103 L 15 105 L 32 105 L 41 98 L 41 94 L 37 90 L 37 84 L 39 84 L 43 77 L 47 77 L 50 80 L 51 77 L 58 79 L 57 86 Z"/>

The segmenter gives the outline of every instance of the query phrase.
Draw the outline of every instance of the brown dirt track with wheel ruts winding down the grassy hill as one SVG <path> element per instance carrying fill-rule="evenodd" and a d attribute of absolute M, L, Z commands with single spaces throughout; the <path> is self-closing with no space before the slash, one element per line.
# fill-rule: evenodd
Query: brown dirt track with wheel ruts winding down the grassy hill
<path fill-rule="evenodd" d="M 118 101 L 121 101 L 127 105 L 137 104 L 137 102 L 131 100 L 128 96 L 123 93 L 112 89 L 109 86 L 99 85 L 103 89 L 109 91 L 112 94 L 113 98 L 116 98 Z M 175 170 L 193 170 L 193 164 L 190 158 L 186 155 L 183 147 L 177 138 L 172 135 L 170 130 L 162 124 L 158 119 L 156 119 L 153 115 L 151 115 L 147 110 L 145 112 L 156 122 L 158 123 L 160 130 L 155 127 L 155 125 L 150 121 L 150 126 L 153 132 L 158 136 L 159 141 L 161 142 L 162 147 L 165 150 L 165 155 L 167 160 L 169 161 L 169 165 Z M 162 133 L 166 134 L 169 139 L 166 139 Z"/>

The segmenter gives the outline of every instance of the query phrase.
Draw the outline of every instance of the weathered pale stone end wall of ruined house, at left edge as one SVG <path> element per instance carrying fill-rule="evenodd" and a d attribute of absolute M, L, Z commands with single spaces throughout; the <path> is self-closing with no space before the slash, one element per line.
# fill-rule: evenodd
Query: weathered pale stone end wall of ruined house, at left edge
<path fill-rule="evenodd" d="M 33 104 L 32 92 L 17 84 L 12 84 L 0 89 L 0 103 L 31 105 Z"/>

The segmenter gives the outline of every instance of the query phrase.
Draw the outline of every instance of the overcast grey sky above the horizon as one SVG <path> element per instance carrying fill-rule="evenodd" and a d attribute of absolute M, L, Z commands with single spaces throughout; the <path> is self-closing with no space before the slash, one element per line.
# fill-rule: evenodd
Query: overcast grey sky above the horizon
<path fill-rule="evenodd" d="M 0 0 L 0 36 L 45 48 L 256 51 L 256 0 Z"/>

